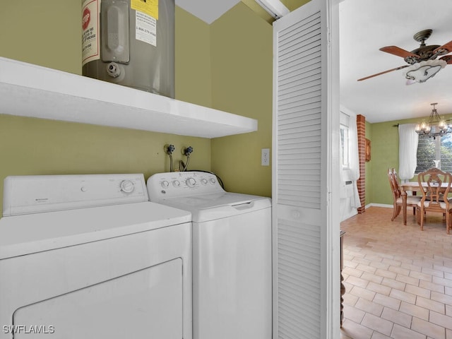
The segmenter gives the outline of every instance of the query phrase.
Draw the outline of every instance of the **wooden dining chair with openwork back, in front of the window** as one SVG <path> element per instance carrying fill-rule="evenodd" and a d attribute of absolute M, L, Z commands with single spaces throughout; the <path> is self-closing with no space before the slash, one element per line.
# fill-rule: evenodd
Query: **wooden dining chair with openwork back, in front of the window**
<path fill-rule="evenodd" d="M 424 230 L 426 213 L 440 212 L 446 215 L 446 230 L 447 234 L 450 234 L 452 204 L 449 201 L 448 193 L 451 189 L 452 174 L 433 167 L 417 174 L 417 182 L 422 187 L 422 198 L 417 204 L 417 218 L 418 222 L 420 222 L 421 230 Z"/>

